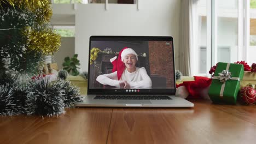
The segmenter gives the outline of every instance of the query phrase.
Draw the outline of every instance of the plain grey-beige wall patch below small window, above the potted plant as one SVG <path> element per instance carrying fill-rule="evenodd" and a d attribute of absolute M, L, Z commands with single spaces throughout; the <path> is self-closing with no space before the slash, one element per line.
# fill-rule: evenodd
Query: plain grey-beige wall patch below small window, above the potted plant
<path fill-rule="evenodd" d="M 62 37 L 61 38 L 61 47 L 60 50 L 54 53 L 54 61 L 57 63 L 59 69 L 62 69 L 62 63 L 64 58 L 69 56 L 73 57 L 74 55 L 74 37 Z"/>

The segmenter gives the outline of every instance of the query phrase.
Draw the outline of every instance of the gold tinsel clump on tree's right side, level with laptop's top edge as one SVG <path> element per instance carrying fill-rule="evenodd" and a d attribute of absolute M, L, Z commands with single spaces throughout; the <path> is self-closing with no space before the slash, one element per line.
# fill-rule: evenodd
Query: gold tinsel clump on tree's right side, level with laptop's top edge
<path fill-rule="evenodd" d="M 43 31 L 34 31 L 28 27 L 25 35 L 28 38 L 28 51 L 50 55 L 53 52 L 59 51 L 61 46 L 61 35 L 54 33 L 50 28 L 45 28 Z"/>

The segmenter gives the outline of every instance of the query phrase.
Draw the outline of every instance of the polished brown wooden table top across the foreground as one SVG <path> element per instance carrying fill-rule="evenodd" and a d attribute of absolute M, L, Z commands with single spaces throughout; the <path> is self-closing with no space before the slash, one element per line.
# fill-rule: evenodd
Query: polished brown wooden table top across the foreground
<path fill-rule="evenodd" d="M 256 105 L 76 108 L 59 117 L 0 117 L 0 143 L 255 143 Z"/>

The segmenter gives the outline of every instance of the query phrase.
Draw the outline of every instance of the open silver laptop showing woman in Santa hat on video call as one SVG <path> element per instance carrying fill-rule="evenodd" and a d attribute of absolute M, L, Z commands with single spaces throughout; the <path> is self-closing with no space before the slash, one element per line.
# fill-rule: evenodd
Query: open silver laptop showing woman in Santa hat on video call
<path fill-rule="evenodd" d="M 172 37 L 91 36 L 88 61 L 88 94 L 76 106 L 194 106 L 175 97 Z"/>

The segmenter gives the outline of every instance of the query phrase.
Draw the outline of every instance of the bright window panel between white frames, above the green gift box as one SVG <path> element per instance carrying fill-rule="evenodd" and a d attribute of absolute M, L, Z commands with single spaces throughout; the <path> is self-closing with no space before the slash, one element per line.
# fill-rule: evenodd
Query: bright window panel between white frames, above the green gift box
<path fill-rule="evenodd" d="M 234 63 L 238 60 L 238 0 L 218 0 L 216 3 L 217 22 L 214 22 L 215 50 L 214 64 L 217 62 Z M 217 24 L 217 26 L 215 25 Z"/>

